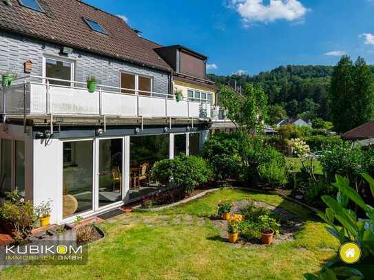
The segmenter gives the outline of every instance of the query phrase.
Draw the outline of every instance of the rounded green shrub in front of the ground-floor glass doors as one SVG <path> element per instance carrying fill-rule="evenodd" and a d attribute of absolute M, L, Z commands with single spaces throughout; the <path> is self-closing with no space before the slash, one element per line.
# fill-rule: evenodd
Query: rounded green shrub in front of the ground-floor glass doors
<path fill-rule="evenodd" d="M 194 155 L 178 155 L 174 160 L 161 160 L 156 162 L 152 169 L 154 180 L 178 187 L 182 195 L 187 195 L 205 184 L 212 175 L 207 162 Z"/>

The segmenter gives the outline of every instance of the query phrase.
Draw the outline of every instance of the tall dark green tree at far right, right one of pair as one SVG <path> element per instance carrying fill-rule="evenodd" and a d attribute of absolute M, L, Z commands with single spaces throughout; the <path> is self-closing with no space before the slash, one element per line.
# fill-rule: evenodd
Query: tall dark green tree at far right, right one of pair
<path fill-rule="evenodd" d="M 353 72 L 355 83 L 355 97 L 353 103 L 353 127 L 373 120 L 374 117 L 374 78 L 364 58 L 359 57 L 355 62 L 355 71 Z"/>

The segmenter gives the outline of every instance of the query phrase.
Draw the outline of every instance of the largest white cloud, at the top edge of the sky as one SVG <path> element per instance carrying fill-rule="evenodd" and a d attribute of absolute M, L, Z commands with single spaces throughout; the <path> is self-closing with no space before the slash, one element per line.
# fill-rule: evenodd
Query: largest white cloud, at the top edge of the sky
<path fill-rule="evenodd" d="M 231 0 L 231 7 L 235 8 L 247 25 L 256 21 L 269 23 L 278 19 L 302 21 L 309 11 L 298 0 L 270 0 L 268 5 L 263 0 Z"/>

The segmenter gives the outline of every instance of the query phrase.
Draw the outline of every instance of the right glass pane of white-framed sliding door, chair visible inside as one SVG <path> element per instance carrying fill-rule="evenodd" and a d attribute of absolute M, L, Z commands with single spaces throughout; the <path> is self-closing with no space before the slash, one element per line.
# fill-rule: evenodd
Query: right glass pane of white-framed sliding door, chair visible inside
<path fill-rule="evenodd" d="M 98 207 L 122 200 L 123 140 L 98 141 Z"/>

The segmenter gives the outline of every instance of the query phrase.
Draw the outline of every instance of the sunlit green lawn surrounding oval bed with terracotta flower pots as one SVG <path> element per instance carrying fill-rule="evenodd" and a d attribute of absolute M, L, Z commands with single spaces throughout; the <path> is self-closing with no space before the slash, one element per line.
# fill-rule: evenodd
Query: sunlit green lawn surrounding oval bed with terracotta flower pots
<path fill-rule="evenodd" d="M 219 238 L 209 215 L 219 200 L 253 199 L 305 219 L 295 241 L 235 248 Z M 225 190 L 159 213 L 129 213 L 101 224 L 86 266 L 17 266 L 0 279 L 302 279 L 335 255 L 337 241 L 304 208 L 277 195 Z"/>

